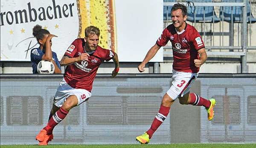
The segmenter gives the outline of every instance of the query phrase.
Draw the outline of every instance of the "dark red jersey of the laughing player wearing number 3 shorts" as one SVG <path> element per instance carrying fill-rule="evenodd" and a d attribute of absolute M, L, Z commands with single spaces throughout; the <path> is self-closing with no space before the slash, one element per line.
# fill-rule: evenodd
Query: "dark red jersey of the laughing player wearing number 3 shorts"
<path fill-rule="evenodd" d="M 199 59 L 198 50 L 204 48 L 204 42 L 195 27 L 186 23 L 185 29 L 177 32 L 173 24 L 167 26 L 158 38 L 157 45 L 165 46 L 168 41 L 172 43 L 173 69 L 198 73 L 194 59 Z"/>

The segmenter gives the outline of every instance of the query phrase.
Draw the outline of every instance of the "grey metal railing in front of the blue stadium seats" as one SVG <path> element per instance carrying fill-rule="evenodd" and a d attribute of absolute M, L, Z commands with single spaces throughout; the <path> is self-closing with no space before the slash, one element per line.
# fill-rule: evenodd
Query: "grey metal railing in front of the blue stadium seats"
<path fill-rule="evenodd" d="M 176 2 L 164 2 L 163 6 L 173 6 Z M 184 5 L 188 6 L 188 3 L 183 3 Z M 216 21 L 215 22 L 215 9 L 213 9 L 213 21 L 212 22 L 207 22 L 205 20 L 205 11 L 203 12 L 203 20 L 201 20 L 200 22 L 196 20 L 196 14 L 194 13 L 194 22 L 190 22 L 192 23 L 193 26 L 195 26 L 198 30 L 201 29 L 201 36 L 204 40 L 204 43 L 206 45 L 206 50 L 207 50 L 207 54 L 208 55 L 238 55 L 241 56 L 241 73 L 247 73 L 247 61 L 246 61 L 246 54 L 247 54 L 247 50 L 255 50 L 256 46 L 251 46 L 251 35 L 252 35 L 252 30 L 249 30 L 249 34 L 247 33 L 247 0 L 244 0 L 243 3 L 193 3 L 193 6 L 195 6 L 194 8 L 196 8 L 196 6 L 211 6 L 211 7 L 220 7 L 222 8 L 220 10 L 220 14 L 221 17 L 220 21 Z M 225 32 L 224 31 L 224 15 L 223 15 L 223 6 L 241 6 L 242 7 L 242 14 L 241 14 L 241 20 L 240 23 L 236 23 L 236 25 L 238 26 L 237 29 L 237 33 L 234 33 L 234 21 L 233 21 L 233 15 L 231 14 L 231 20 L 228 22 L 229 23 L 229 32 Z M 251 6 L 251 1 L 250 1 L 250 6 Z M 231 7 L 233 8 L 233 7 Z M 251 7 L 250 7 L 251 8 Z M 167 7 L 168 9 L 168 7 Z M 250 10 L 251 11 L 251 10 Z M 168 19 L 168 12 L 166 13 L 166 20 L 164 20 L 164 28 L 167 27 L 167 25 L 169 25 L 169 23 L 172 23 L 172 20 Z M 252 25 L 251 22 L 251 13 L 250 13 L 250 19 L 248 21 L 248 23 L 250 24 L 250 26 Z M 206 31 L 206 25 L 210 23 L 210 32 Z M 215 23 L 219 23 L 219 32 L 215 32 Z M 226 24 L 227 25 L 227 24 Z M 239 25 L 241 26 L 239 28 Z M 254 25 L 254 24 L 253 24 Z M 201 27 L 200 27 L 201 26 Z M 222 30 L 221 30 L 222 29 Z M 241 29 L 241 30 L 240 30 Z M 229 37 L 229 42 L 227 42 L 228 44 L 225 45 L 226 41 L 224 39 L 224 36 L 228 36 Z M 237 46 L 234 46 L 234 38 L 237 36 L 238 40 L 237 40 Z M 247 37 L 249 36 L 250 39 L 250 43 L 247 42 Z M 219 45 L 216 46 L 216 37 L 219 38 Z M 206 41 L 206 39 L 208 39 Z M 248 46 L 249 45 L 249 46 Z M 172 56 L 172 46 L 165 46 L 163 47 L 164 51 L 164 57 L 165 56 Z"/>

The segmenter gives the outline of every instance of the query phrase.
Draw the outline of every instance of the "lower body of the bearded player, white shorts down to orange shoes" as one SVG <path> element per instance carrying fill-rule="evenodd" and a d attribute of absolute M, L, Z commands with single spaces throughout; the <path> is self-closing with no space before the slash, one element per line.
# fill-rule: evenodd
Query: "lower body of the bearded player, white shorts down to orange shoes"
<path fill-rule="evenodd" d="M 91 93 L 87 90 L 72 88 L 63 79 L 54 97 L 52 113 L 55 113 L 53 113 L 53 116 L 49 119 L 47 126 L 36 136 L 39 145 L 48 145 L 48 142 L 53 138 L 53 128 L 67 116 L 71 108 L 87 101 L 90 96 Z"/>

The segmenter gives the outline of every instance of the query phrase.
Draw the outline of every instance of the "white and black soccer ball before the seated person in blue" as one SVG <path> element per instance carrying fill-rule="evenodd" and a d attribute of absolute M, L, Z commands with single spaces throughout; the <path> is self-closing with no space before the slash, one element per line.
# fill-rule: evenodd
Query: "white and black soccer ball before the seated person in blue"
<path fill-rule="evenodd" d="M 40 61 L 37 66 L 38 73 L 41 74 L 52 74 L 54 73 L 55 67 L 51 61 Z"/>

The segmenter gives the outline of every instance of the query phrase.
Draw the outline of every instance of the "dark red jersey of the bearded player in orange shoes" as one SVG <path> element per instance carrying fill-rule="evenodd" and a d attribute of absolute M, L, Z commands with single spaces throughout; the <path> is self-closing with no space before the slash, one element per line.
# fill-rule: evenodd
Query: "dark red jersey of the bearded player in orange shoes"
<path fill-rule="evenodd" d="M 84 51 L 85 41 L 83 38 L 77 38 L 65 52 L 64 56 L 69 58 L 79 57 Z M 113 58 L 115 52 L 103 49 L 99 45 L 95 52 L 90 54 L 89 61 L 81 61 L 73 63 L 66 67 L 64 79 L 73 88 L 85 89 L 89 92 L 92 90 L 93 80 L 99 65 L 104 61 Z"/>

